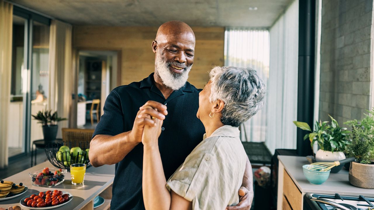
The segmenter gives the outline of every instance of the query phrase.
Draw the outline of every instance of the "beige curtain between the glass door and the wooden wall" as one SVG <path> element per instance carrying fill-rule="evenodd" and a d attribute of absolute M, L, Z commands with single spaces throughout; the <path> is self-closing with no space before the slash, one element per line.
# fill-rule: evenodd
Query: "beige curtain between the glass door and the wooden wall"
<path fill-rule="evenodd" d="M 47 109 L 57 111 L 59 117 L 69 116 L 73 71 L 71 65 L 72 26 L 52 20 L 49 35 L 49 94 Z M 68 127 L 68 121 L 58 123 L 57 137 L 61 128 Z"/>

